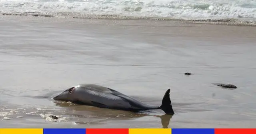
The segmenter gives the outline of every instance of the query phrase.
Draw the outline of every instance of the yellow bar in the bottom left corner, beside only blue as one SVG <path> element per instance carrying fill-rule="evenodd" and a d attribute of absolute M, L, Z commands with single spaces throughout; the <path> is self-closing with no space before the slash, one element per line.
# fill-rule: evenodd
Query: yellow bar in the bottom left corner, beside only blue
<path fill-rule="evenodd" d="M 1 128 L 0 134 L 43 134 L 43 128 Z"/>

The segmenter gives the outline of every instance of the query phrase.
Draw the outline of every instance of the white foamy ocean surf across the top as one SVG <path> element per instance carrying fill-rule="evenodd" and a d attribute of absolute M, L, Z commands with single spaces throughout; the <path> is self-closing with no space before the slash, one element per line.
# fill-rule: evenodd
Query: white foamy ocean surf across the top
<path fill-rule="evenodd" d="M 0 12 L 255 19 L 256 0 L 0 0 Z"/>

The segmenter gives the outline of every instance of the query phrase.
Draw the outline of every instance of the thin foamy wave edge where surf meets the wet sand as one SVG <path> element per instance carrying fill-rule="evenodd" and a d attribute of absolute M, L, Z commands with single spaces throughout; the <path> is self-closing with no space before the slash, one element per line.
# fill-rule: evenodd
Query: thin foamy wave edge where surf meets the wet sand
<path fill-rule="evenodd" d="M 36 12 L 28 13 L 3 13 L 0 16 L 32 16 L 32 17 L 50 17 L 50 18 L 68 18 L 68 19 L 90 19 L 90 20 L 151 20 L 151 21 L 172 21 L 187 24 L 212 24 L 212 25 L 226 25 L 226 26 L 256 26 L 256 21 L 242 20 L 237 18 L 223 18 L 223 19 L 184 19 L 184 18 L 168 18 L 168 17 L 150 17 L 150 16 L 120 16 L 111 14 L 42 14 Z"/>

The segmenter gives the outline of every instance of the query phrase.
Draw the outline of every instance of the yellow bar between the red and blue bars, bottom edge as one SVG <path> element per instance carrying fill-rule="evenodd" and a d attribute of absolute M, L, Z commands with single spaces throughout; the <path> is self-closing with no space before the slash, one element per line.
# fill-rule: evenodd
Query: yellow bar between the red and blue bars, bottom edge
<path fill-rule="evenodd" d="M 172 134 L 171 128 L 129 128 L 129 134 Z"/>

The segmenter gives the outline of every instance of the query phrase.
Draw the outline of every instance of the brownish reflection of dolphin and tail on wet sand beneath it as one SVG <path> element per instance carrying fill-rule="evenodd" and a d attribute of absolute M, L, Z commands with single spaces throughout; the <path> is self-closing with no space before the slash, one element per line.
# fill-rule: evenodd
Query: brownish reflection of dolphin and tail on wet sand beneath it
<path fill-rule="evenodd" d="M 158 117 L 161 119 L 162 128 L 168 128 L 172 115 L 152 115 L 150 111 L 130 112 L 123 110 L 113 110 L 107 108 L 98 108 L 94 106 L 81 106 L 71 102 L 54 101 L 56 106 L 65 108 L 66 116 L 75 116 L 78 118 L 87 118 L 86 121 L 75 121 L 77 124 L 101 124 L 106 120 L 132 120 L 135 118 L 142 118 L 145 116 Z M 90 118 L 90 120 L 88 120 Z M 93 118 L 97 120 L 92 120 Z"/>

